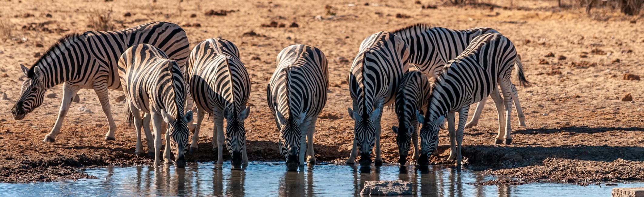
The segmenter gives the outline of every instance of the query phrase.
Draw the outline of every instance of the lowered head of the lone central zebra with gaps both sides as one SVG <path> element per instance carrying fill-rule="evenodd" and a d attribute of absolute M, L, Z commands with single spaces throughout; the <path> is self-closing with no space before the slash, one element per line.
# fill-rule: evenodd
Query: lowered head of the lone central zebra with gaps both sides
<path fill-rule="evenodd" d="M 301 144 L 305 144 L 306 133 L 300 129 L 307 113 L 299 113 L 299 115 L 289 116 L 289 118 L 284 118 L 279 110 L 276 113 L 281 126 L 279 127 L 279 153 L 286 158 L 288 171 L 298 171 L 298 167 L 304 165 L 299 163 L 299 157 L 305 156 L 299 155 L 299 152 L 301 149 L 307 148 L 301 147 Z"/>

